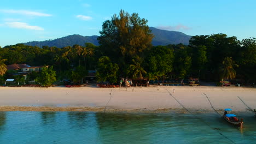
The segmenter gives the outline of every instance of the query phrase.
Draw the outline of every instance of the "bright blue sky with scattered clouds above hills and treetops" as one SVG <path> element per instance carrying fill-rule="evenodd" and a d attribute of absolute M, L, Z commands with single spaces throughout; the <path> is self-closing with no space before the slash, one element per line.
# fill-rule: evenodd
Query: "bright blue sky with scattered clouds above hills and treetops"
<path fill-rule="evenodd" d="M 71 34 L 99 35 L 120 9 L 138 13 L 150 27 L 188 35 L 225 33 L 256 37 L 255 0 L 1 0 L 0 46 Z"/>

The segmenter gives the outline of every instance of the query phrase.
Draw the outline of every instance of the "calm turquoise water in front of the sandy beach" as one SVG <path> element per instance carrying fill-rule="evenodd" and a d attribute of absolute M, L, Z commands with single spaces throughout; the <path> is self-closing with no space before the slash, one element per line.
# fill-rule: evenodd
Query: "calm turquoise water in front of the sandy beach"
<path fill-rule="evenodd" d="M 0 112 L 0 143 L 256 143 L 256 117 L 241 131 L 216 114 Z"/>

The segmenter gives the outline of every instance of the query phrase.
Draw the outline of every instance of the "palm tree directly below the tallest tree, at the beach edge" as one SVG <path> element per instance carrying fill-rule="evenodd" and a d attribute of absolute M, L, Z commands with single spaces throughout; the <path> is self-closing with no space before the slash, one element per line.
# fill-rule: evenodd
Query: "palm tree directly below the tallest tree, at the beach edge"
<path fill-rule="evenodd" d="M 129 67 L 129 72 L 132 73 L 132 78 L 136 81 L 137 86 L 137 78 L 143 79 L 142 74 L 147 74 L 147 72 L 141 67 L 141 64 L 143 62 L 142 58 L 139 58 L 138 56 L 135 57 L 135 59 L 132 59 L 133 64 Z"/>

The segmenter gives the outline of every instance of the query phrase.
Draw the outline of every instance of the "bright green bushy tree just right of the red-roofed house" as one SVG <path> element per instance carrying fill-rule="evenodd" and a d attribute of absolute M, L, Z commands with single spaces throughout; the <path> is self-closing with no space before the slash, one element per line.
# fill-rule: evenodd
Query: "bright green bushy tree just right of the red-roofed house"
<path fill-rule="evenodd" d="M 36 82 L 39 82 L 44 87 L 49 87 L 53 85 L 53 82 L 56 81 L 56 71 L 53 70 L 53 66 L 50 68 L 43 67 L 39 73 L 39 76 L 36 78 Z"/>

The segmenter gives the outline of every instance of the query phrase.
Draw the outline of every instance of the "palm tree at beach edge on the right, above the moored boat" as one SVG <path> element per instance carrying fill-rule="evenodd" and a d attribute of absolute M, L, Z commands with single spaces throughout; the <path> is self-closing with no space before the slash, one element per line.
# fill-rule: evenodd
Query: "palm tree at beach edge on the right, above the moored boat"
<path fill-rule="evenodd" d="M 235 67 L 238 67 L 234 61 L 232 61 L 232 57 L 225 57 L 222 62 L 222 78 L 223 79 L 234 79 L 236 77 Z"/>

